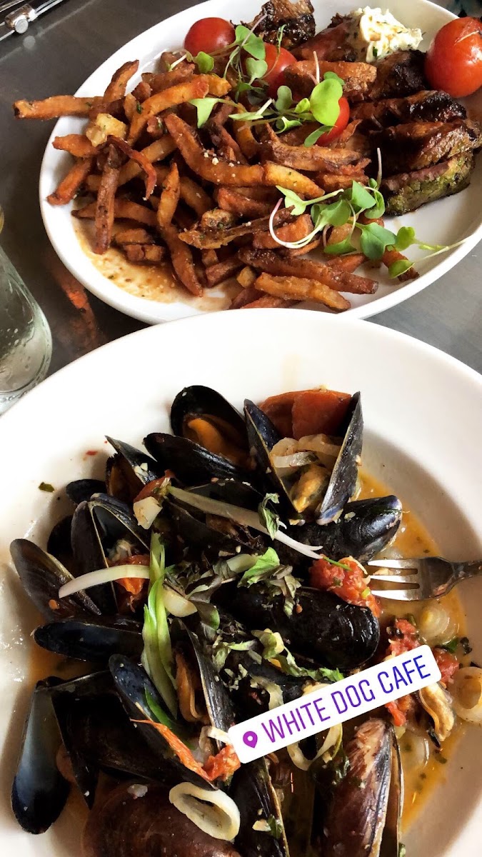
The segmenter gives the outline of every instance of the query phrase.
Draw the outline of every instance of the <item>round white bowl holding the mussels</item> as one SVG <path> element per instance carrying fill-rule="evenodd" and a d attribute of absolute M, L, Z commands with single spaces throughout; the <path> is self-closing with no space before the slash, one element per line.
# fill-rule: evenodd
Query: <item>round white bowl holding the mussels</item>
<path fill-rule="evenodd" d="M 249 338 L 246 330 L 249 328 Z M 193 359 L 196 355 L 196 359 Z M 407 502 L 453 559 L 482 555 L 482 379 L 442 352 L 384 327 L 307 311 L 206 315 L 105 345 L 62 369 L 0 420 L 0 854 L 80 857 L 69 810 L 43 836 L 9 811 L 9 789 L 30 685 L 28 635 L 36 619 L 9 566 L 9 542 L 45 544 L 67 513 L 63 486 L 101 476 L 104 435 L 140 445 L 168 430 L 172 399 L 207 384 L 233 404 L 325 384 L 362 391 L 365 466 Z M 87 450 L 99 450 L 87 456 Z M 39 491 L 51 482 L 54 494 Z M 482 660 L 482 579 L 461 585 L 473 658 Z M 407 834 L 408 857 L 479 857 L 482 729 L 472 728 L 443 768 L 445 784 Z"/>

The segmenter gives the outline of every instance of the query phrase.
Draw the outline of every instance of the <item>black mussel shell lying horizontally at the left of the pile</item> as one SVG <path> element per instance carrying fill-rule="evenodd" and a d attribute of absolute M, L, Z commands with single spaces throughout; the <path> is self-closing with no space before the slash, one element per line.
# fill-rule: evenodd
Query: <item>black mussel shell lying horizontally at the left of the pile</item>
<path fill-rule="evenodd" d="M 64 619 L 42 625 L 33 632 L 33 639 L 43 649 L 77 661 L 102 663 L 107 666 L 111 655 L 140 658 L 142 627 L 134 620 L 121 619 L 111 624 Z"/>

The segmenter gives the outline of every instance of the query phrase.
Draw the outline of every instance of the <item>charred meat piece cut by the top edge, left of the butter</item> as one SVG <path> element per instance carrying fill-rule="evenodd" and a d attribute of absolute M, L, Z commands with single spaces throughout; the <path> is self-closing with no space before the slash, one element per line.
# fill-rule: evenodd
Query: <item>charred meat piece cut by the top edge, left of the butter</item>
<path fill-rule="evenodd" d="M 268 3 L 263 4 L 260 14 L 246 27 L 254 27 L 256 20 L 263 15 L 256 27 L 256 35 L 263 35 L 266 42 L 276 44 L 279 28 L 285 27 L 281 45 L 288 51 L 315 34 L 310 0 L 297 0 L 296 3 L 290 3 L 290 0 L 268 0 Z"/>

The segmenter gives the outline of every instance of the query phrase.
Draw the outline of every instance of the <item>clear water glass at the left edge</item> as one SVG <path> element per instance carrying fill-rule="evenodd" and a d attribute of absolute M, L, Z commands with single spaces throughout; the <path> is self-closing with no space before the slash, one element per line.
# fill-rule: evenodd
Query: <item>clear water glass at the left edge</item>
<path fill-rule="evenodd" d="M 50 362 L 45 315 L 0 247 L 0 414 L 45 378 Z"/>

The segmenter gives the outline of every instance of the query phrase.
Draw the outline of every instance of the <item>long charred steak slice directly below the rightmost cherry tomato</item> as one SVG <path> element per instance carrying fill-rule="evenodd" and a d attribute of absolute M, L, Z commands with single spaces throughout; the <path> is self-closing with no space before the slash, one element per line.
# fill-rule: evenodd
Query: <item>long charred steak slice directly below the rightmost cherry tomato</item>
<path fill-rule="evenodd" d="M 360 130 L 371 131 L 389 128 L 390 125 L 408 122 L 451 122 L 465 119 L 465 107 L 448 93 L 422 90 L 405 99 L 367 101 L 352 110 L 352 119 L 360 119 Z"/>

